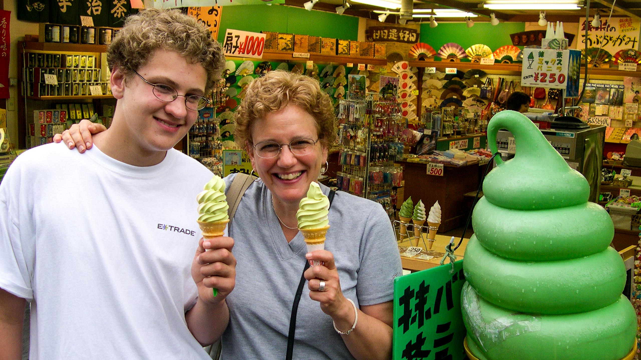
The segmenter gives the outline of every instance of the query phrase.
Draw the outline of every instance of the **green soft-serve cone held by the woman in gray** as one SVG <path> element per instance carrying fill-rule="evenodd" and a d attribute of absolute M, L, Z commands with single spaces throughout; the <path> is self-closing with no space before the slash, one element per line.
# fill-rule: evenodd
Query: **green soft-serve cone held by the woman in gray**
<path fill-rule="evenodd" d="M 307 196 L 301 199 L 296 211 L 298 229 L 303 234 L 307 251 L 325 249 L 325 234 L 329 229 L 329 199 L 317 183 L 310 184 Z M 310 265 L 320 265 L 320 261 L 310 261 Z"/>

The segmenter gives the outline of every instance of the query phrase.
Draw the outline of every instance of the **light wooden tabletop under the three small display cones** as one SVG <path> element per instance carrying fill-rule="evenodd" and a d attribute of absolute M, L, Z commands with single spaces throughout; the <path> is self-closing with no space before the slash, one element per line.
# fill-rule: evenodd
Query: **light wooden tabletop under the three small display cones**
<path fill-rule="evenodd" d="M 425 241 L 425 244 L 428 245 L 429 247 L 429 242 L 426 239 L 426 233 L 422 233 L 422 240 Z M 401 264 L 403 265 L 403 268 L 405 270 L 410 270 L 411 272 L 415 271 L 420 271 L 420 270 L 425 270 L 428 268 L 433 268 L 435 266 L 440 265 L 440 260 L 443 258 L 445 255 L 445 246 L 449 244 L 451 236 L 444 236 L 444 235 L 438 235 L 435 238 L 435 241 L 432 245 L 432 249 L 430 250 L 423 250 L 421 254 L 425 254 L 428 256 L 434 256 L 432 259 L 424 260 L 424 259 L 417 259 L 417 258 L 406 258 L 405 256 L 401 256 Z M 406 249 L 409 246 L 419 246 L 425 249 L 425 245 L 423 245 L 423 241 L 420 239 L 415 239 L 410 237 L 410 240 L 404 240 L 400 241 L 398 243 L 399 245 L 399 251 L 402 249 L 403 251 L 400 251 L 401 254 L 404 252 L 404 249 Z M 419 240 L 419 244 L 415 245 L 415 241 Z M 458 240 L 460 238 L 454 238 L 454 246 L 458 243 Z M 465 247 L 467 246 L 467 241 L 469 239 L 463 239 L 463 242 L 461 243 L 461 246 L 454 251 L 454 255 L 456 255 L 456 260 L 463 259 L 463 254 L 465 253 Z M 411 243 L 410 243 L 411 242 Z M 449 259 L 445 259 L 445 264 L 449 264 Z"/>

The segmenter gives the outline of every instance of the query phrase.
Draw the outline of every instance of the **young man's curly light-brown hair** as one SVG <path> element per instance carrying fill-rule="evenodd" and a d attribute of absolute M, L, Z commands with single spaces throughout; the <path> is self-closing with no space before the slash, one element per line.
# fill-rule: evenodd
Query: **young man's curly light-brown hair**
<path fill-rule="evenodd" d="M 205 91 L 215 85 L 225 66 L 221 45 L 196 19 L 180 10 L 150 8 L 129 16 L 107 48 L 109 70 L 119 67 L 126 78 L 149 60 L 154 51 L 175 51 L 207 72 Z"/>

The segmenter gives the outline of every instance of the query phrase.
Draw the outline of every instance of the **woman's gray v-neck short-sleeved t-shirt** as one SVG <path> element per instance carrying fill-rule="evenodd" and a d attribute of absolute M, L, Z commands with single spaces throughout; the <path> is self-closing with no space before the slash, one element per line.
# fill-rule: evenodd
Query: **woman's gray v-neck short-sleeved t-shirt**
<path fill-rule="evenodd" d="M 233 177 L 225 177 L 227 188 Z M 329 188 L 320 187 L 328 195 Z M 307 249 L 300 233 L 287 243 L 271 201 L 262 181 L 253 183 L 229 222 L 236 287 L 227 297 L 230 318 L 222 336 L 222 360 L 285 359 L 292 302 Z M 392 300 L 394 277 L 402 274 L 401 258 L 381 205 L 337 192 L 329 225 L 325 249 L 334 255 L 345 297 L 356 306 Z M 307 284 L 298 307 L 293 358 L 354 359 L 331 317 L 310 299 Z"/>

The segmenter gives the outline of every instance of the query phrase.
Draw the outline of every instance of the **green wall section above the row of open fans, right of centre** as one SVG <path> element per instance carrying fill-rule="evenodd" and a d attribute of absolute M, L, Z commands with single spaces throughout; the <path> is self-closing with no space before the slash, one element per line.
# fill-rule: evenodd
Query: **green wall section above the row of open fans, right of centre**
<path fill-rule="evenodd" d="M 501 22 L 497 26 L 489 22 L 476 22 L 472 28 L 468 28 L 465 22 L 443 22 L 436 28 L 430 28 L 428 22 L 420 26 L 420 42 L 429 44 L 436 51 L 448 42 L 456 42 L 463 49 L 474 44 L 485 44 L 494 51 L 503 45 L 512 45 L 510 34 L 524 30 L 524 22 Z"/>

